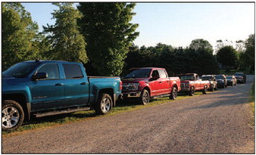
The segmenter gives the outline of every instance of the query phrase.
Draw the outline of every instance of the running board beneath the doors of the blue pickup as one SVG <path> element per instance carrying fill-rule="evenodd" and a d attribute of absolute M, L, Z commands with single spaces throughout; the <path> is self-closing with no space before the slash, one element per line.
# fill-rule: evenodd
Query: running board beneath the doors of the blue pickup
<path fill-rule="evenodd" d="M 67 110 L 55 110 L 55 111 L 50 111 L 50 112 L 46 112 L 46 113 L 35 113 L 34 116 L 36 116 L 36 118 L 38 117 L 42 117 L 42 116 L 52 116 L 52 115 L 58 115 L 58 114 L 64 114 L 64 113 L 74 113 L 77 111 L 86 111 L 86 110 L 90 110 L 90 107 L 83 107 L 83 108 L 76 108 L 76 109 L 67 109 Z"/>

